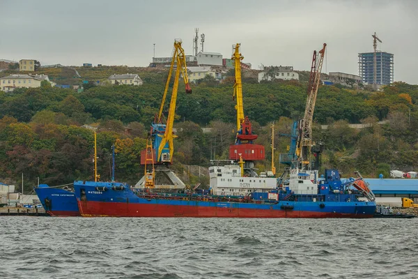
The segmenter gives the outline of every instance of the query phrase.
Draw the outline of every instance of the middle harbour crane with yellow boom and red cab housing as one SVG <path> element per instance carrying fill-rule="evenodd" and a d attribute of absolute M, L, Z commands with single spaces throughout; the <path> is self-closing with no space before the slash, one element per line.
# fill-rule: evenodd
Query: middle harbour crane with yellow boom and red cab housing
<path fill-rule="evenodd" d="M 230 160 L 244 160 L 245 168 L 250 176 L 256 176 L 254 172 L 254 161 L 264 160 L 264 146 L 254 144 L 258 137 L 252 133 L 251 121 L 248 116 L 244 116 L 244 105 L 242 103 L 242 80 L 241 80 L 241 61 L 244 56 L 240 53 L 240 44 L 233 46 L 232 59 L 235 64 L 235 83 L 233 84 L 233 99 L 236 99 L 235 110 L 237 111 L 237 132 L 235 135 L 235 144 L 229 146 Z"/>

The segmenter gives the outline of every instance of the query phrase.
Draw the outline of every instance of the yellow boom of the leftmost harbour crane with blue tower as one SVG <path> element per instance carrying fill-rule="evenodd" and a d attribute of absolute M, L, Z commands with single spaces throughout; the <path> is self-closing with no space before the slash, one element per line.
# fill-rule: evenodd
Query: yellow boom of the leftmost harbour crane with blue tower
<path fill-rule="evenodd" d="M 169 77 L 171 77 L 171 72 L 173 70 L 173 64 L 174 61 L 177 63 L 176 73 L 174 75 L 174 84 L 173 84 L 173 92 L 171 93 L 171 100 L 170 100 L 170 106 L 169 106 L 169 114 L 167 116 L 167 123 L 164 135 L 162 136 L 162 140 L 160 142 L 160 146 L 158 146 L 158 153 L 157 153 L 157 160 L 160 162 L 160 160 L 165 162 L 171 162 L 171 158 L 173 158 L 173 123 L 174 123 L 174 116 L 176 114 L 176 102 L 177 102 L 177 90 L 178 90 L 178 80 L 180 79 L 180 72 L 183 74 L 183 78 L 185 80 L 185 86 L 186 86 L 186 93 L 192 93 L 192 89 L 190 89 L 189 85 L 189 79 L 187 77 L 187 67 L 186 67 L 186 60 L 185 60 L 185 51 L 183 50 L 183 47 L 181 47 L 181 41 L 176 40 L 174 42 L 174 54 L 173 54 L 173 60 L 171 61 L 171 67 L 169 72 Z M 167 80 L 167 84 L 169 83 L 169 79 Z M 164 97 L 167 94 L 168 86 L 166 84 L 166 91 L 164 91 Z M 164 101 L 164 100 L 163 100 Z M 164 104 L 162 104 L 163 106 Z M 160 109 L 160 112 L 162 110 Z M 160 135 L 159 135 L 160 136 Z M 163 149 L 166 144 L 169 144 L 168 151 L 164 152 L 163 155 Z"/>

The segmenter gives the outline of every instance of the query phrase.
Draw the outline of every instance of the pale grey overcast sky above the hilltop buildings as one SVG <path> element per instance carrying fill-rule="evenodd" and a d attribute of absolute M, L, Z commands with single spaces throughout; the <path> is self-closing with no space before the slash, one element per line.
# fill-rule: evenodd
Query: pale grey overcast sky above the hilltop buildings
<path fill-rule="evenodd" d="M 192 54 L 194 28 L 205 51 L 229 58 L 241 43 L 253 68 L 309 70 L 313 50 L 327 43 L 323 72 L 358 74 L 359 52 L 394 54 L 396 81 L 418 84 L 415 0 L 0 0 L 0 59 L 42 64 L 148 66 L 170 56 L 181 38 Z M 200 47 L 200 46 L 199 46 Z"/>

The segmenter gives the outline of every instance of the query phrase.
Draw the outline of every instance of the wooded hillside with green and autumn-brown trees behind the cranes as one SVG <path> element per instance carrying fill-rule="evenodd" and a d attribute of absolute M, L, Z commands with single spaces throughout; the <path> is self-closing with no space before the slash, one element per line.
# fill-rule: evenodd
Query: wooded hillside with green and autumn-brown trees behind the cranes
<path fill-rule="evenodd" d="M 92 179 L 93 131 L 98 127 L 99 166 L 109 179 L 110 146 L 116 142 L 116 174 L 119 180 L 134 183 L 144 170 L 139 153 L 144 149 L 146 131 L 159 109 L 167 73 L 144 73 L 143 86 L 86 86 L 82 93 L 72 89 L 17 89 L 0 91 L 0 181 L 20 183 L 24 172 L 28 185 L 40 177 L 57 185 L 74 179 Z M 208 165 L 210 158 L 226 158 L 233 142 L 235 102 L 233 77 L 222 84 L 206 78 L 185 94 L 180 83 L 175 127 L 175 165 Z M 304 112 L 306 84 L 243 81 L 245 114 L 256 128 L 258 143 L 270 156 L 270 129 L 277 123 L 278 152 L 286 153 L 291 119 Z M 330 124 L 316 126 L 314 137 L 325 143 L 323 167 L 338 167 L 347 175 L 353 169 L 376 176 L 389 167 L 415 167 L 417 162 L 418 86 L 397 82 L 382 92 L 355 91 L 320 86 L 314 119 Z M 166 102 L 167 105 L 169 102 Z M 384 125 L 376 124 L 387 120 Z M 353 130 L 348 123 L 367 123 Z M 204 134 L 201 127 L 210 126 Z M 265 127 L 265 128 L 262 128 Z M 130 134 L 125 133 L 130 128 Z M 278 158 L 278 156 L 276 156 Z M 260 169 L 270 165 L 267 160 Z M 276 162 L 279 164 L 279 161 Z M 199 178 L 191 176 L 191 183 Z M 204 180 L 204 178 L 200 178 Z M 203 181 L 207 183 L 207 181 Z M 30 187 L 30 186 L 28 186 Z"/>

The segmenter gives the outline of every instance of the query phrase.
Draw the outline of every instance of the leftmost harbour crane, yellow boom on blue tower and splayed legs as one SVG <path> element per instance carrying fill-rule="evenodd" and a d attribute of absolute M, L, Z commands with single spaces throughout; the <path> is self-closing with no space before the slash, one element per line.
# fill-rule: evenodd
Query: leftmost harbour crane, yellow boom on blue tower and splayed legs
<path fill-rule="evenodd" d="M 149 145 L 147 142 L 146 150 L 141 151 L 141 165 L 149 166 L 150 162 L 152 161 L 153 165 L 157 165 L 157 167 L 155 169 L 154 166 L 153 169 L 147 169 L 146 167 L 146 175 L 137 183 L 137 186 L 144 185 L 144 183 L 145 185 L 150 186 L 151 183 L 155 183 L 155 171 L 163 172 L 167 176 L 167 179 L 171 181 L 170 183 L 172 183 L 175 186 L 178 186 L 178 188 L 184 188 L 185 186 L 183 181 L 180 181 L 176 174 L 174 174 L 170 169 L 165 167 L 165 165 L 171 164 L 173 160 L 173 138 L 176 137 L 175 135 L 173 135 L 173 123 L 174 116 L 176 113 L 177 92 L 180 74 L 182 75 L 183 80 L 185 82 L 186 93 L 192 93 L 192 89 L 189 85 L 189 78 L 187 76 L 185 51 L 183 50 L 181 43 L 181 40 L 174 40 L 173 56 L 171 59 L 171 65 L 169 68 L 169 75 L 167 77 L 164 94 L 162 96 L 160 111 L 157 115 L 155 115 L 155 119 L 153 123 L 151 123 L 149 137 L 150 142 L 152 142 L 152 144 Z M 167 121 L 164 121 L 165 119 L 162 112 L 164 110 L 164 104 L 167 99 L 171 75 L 173 74 L 175 64 L 176 72 L 174 74 L 173 89 L 171 91 L 169 112 L 167 114 Z M 150 176 L 151 174 L 153 174 L 152 181 Z"/>

